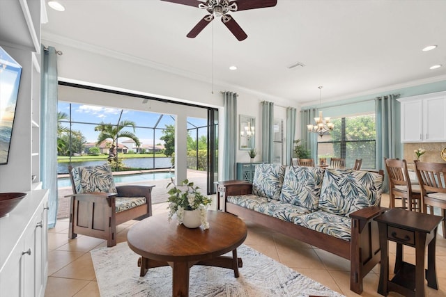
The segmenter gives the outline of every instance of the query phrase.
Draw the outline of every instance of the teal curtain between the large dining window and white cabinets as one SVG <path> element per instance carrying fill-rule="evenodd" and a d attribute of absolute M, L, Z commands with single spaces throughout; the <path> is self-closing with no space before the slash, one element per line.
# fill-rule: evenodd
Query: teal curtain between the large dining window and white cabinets
<path fill-rule="evenodd" d="M 376 168 L 385 172 L 384 158 L 402 158 L 400 104 L 397 96 L 376 97 L 375 119 Z M 388 180 L 385 178 L 383 192 L 388 190 Z"/>

